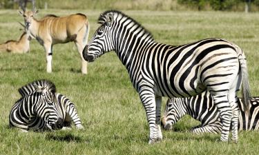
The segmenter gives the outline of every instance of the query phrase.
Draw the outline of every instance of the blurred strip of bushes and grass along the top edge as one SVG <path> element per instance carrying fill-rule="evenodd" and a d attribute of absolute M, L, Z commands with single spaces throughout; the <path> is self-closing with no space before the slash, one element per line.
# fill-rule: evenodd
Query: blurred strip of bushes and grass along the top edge
<path fill-rule="evenodd" d="M 0 0 L 0 9 L 17 9 L 21 0 Z M 26 1 L 31 6 L 32 0 Z M 259 11 L 259 0 L 38 0 L 40 9 L 117 9 L 117 10 L 224 10 Z"/>

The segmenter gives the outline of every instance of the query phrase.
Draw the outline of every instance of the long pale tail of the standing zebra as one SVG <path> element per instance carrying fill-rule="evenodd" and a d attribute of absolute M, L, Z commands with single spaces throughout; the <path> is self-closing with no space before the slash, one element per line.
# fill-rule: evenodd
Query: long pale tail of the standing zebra
<path fill-rule="evenodd" d="M 237 47 L 238 51 L 238 61 L 241 67 L 241 75 L 242 75 L 242 101 L 244 106 L 244 112 L 249 114 L 249 99 L 250 99 L 250 87 L 249 87 L 249 76 L 247 72 L 247 59 L 244 55 L 244 52 Z"/>

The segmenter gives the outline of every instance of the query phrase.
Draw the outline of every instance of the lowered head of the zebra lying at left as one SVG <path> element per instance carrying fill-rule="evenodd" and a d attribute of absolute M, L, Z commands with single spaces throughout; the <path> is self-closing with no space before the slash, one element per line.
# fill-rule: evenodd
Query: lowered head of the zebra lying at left
<path fill-rule="evenodd" d="M 38 100 L 34 105 L 36 115 L 45 121 L 50 130 L 61 129 L 64 121 L 55 96 L 55 85 L 50 81 L 46 81 L 43 85 L 33 83 L 33 87 L 35 88 L 35 93 L 32 95 Z"/>

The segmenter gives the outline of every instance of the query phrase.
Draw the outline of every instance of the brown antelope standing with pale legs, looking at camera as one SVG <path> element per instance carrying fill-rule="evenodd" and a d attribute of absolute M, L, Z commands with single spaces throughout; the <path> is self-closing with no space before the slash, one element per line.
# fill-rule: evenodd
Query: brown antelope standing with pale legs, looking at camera
<path fill-rule="evenodd" d="M 32 38 L 44 46 L 46 51 L 47 72 L 52 72 L 52 45 L 74 41 L 81 56 L 81 72 L 87 74 L 87 62 L 82 56 L 84 46 L 87 44 L 90 25 L 84 14 L 71 14 L 66 17 L 47 15 L 37 20 L 35 14 L 38 10 L 19 11 L 23 16 L 26 30 Z"/>

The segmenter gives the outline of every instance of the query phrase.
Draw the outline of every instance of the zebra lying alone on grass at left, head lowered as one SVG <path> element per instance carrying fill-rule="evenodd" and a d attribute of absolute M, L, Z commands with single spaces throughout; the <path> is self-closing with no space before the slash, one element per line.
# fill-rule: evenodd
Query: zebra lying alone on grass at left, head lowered
<path fill-rule="evenodd" d="M 75 105 L 66 96 L 56 92 L 51 81 L 39 80 L 19 88 L 21 99 L 12 106 L 10 127 L 23 131 L 57 130 L 75 123 L 83 129 Z"/>

